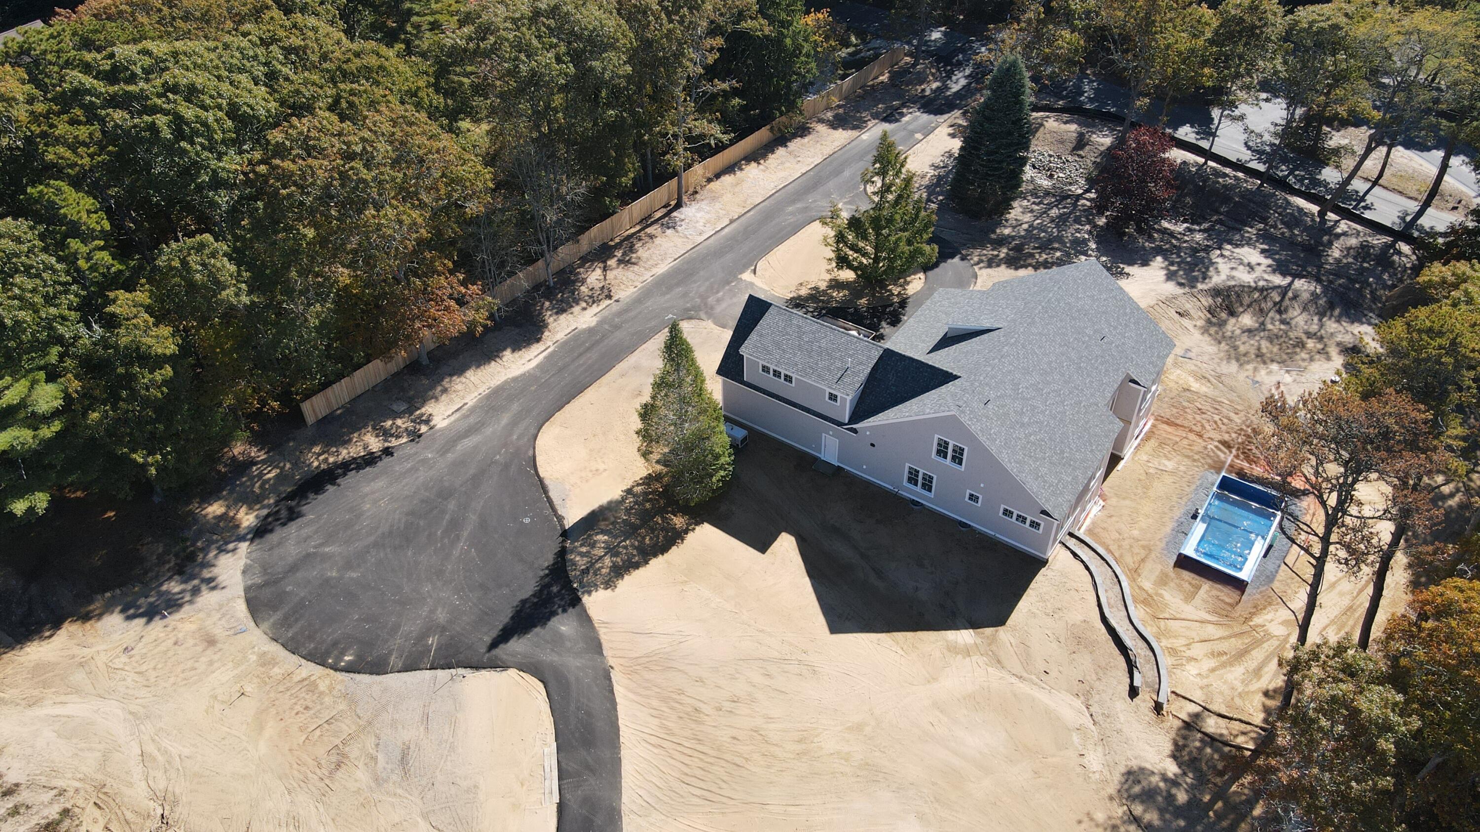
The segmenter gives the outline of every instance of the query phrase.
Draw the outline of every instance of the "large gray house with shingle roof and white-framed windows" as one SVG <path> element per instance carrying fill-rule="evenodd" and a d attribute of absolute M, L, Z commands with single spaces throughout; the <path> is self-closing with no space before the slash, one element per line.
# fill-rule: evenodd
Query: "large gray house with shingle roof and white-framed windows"
<path fill-rule="evenodd" d="M 756 296 L 725 416 L 1039 558 L 1150 423 L 1172 339 L 1095 261 L 935 292 L 885 343 Z"/>

